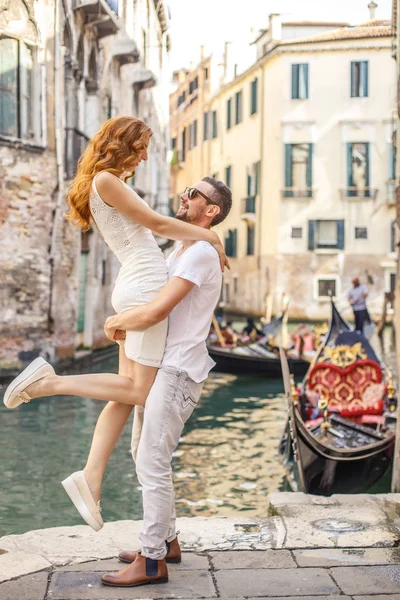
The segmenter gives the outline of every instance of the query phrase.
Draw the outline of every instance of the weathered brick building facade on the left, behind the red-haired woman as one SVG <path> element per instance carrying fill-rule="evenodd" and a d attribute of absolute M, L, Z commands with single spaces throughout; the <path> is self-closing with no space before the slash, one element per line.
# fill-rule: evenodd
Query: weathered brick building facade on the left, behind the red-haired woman
<path fill-rule="evenodd" d="M 118 264 L 64 219 L 65 192 L 110 117 L 153 137 L 132 185 L 168 206 L 168 13 L 163 1 L 1 0 L 0 369 L 101 346 Z"/>

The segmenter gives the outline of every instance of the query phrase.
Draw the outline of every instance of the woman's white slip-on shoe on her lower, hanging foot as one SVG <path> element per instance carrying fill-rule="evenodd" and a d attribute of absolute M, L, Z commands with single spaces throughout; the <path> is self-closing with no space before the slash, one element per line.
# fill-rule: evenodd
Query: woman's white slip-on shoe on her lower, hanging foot
<path fill-rule="evenodd" d="M 103 527 L 100 502 L 96 504 L 83 471 L 72 473 L 61 482 L 82 519 L 95 531 Z"/>

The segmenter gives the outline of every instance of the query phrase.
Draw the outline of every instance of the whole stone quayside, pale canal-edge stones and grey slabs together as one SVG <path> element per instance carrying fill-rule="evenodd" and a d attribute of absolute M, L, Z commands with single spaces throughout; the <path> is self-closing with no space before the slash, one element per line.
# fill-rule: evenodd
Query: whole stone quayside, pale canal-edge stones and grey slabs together
<path fill-rule="evenodd" d="M 0 538 L 0 599 L 400 600 L 398 494 L 271 494 L 265 517 L 178 521 L 182 563 L 169 565 L 167 584 L 138 588 L 105 587 L 100 576 L 137 547 L 140 522 Z"/>

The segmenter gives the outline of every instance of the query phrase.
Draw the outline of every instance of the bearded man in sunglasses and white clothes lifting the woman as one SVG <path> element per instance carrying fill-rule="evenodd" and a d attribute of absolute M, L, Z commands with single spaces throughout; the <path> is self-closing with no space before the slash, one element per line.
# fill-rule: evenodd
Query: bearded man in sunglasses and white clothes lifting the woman
<path fill-rule="evenodd" d="M 226 218 L 231 205 L 229 188 L 205 177 L 181 195 L 176 218 L 209 228 Z M 222 274 L 218 254 L 207 242 L 184 242 L 167 262 L 169 282 L 158 297 L 145 306 L 110 317 L 105 327 L 110 339 L 118 339 L 120 330 L 142 331 L 169 316 L 165 354 L 146 400 L 136 454 L 143 494 L 142 548 L 140 552 L 120 554 L 131 564 L 117 573 L 103 575 L 106 585 L 163 583 L 168 581 L 166 558 L 168 562 L 181 560 L 175 529 L 172 453 L 215 364 L 205 340 L 220 297 Z M 135 441 L 133 446 L 135 456 Z"/>

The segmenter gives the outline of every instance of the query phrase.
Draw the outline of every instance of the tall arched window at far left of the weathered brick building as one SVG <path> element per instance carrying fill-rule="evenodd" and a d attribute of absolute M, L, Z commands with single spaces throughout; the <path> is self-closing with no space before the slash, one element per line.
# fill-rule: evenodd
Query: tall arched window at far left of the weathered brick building
<path fill-rule="evenodd" d="M 37 104 L 34 100 L 33 66 L 33 48 L 13 38 L 0 39 L 0 134 L 2 135 L 27 141 L 39 137 L 40 132 L 35 132 L 34 110 Z"/>

